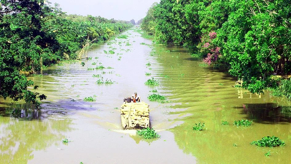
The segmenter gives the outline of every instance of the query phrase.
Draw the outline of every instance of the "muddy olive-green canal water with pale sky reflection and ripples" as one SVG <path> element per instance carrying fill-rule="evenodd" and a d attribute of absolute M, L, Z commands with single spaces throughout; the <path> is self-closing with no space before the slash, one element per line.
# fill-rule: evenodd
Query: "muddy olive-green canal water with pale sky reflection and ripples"
<path fill-rule="evenodd" d="M 21 119 L 2 114 L 2 163 L 289 163 L 290 105 L 285 100 L 232 87 L 235 79 L 205 67 L 183 47 L 151 45 L 134 30 L 123 34 L 128 39 L 116 38 L 90 50 L 92 59 L 83 60 L 84 67 L 81 61 L 63 63 L 32 78 L 47 99 L 40 112 L 22 111 Z M 99 65 L 105 69 L 88 70 Z M 158 87 L 144 85 L 151 77 L 159 80 Z M 114 84 L 95 84 L 98 79 Z M 147 96 L 153 89 L 171 103 L 150 102 Z M 144 140 L 134 130 L 122 129 L 115 108 L 134 92 L 150 105 L 151 124 L 160 139 Z M 88 96 L 96 101 L 84 102 Z M 253 120 L 253 126 L 232 125 L 240 119 Z M 230 125 L 221 125 L 222 120 Z M 206 129 L 193 132 L 198 122 Z M 272 135 L 286 146 L 250 145 Z M 64 138 L 70 141 L 67 145 Z"/>

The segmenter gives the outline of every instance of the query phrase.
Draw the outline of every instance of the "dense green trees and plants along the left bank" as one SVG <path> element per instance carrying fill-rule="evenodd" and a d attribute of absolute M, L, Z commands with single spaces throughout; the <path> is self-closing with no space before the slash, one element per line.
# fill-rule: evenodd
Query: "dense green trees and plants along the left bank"
<path fill-rule="evenodd" d="M 77 58 L 76 51 L 89 41 L 98 43 L 132 26 L 114 19 L 66 15 L 45 0 L 1 0 L 0 96 L 38 103 L 26 76 L 63 58 Z"/>

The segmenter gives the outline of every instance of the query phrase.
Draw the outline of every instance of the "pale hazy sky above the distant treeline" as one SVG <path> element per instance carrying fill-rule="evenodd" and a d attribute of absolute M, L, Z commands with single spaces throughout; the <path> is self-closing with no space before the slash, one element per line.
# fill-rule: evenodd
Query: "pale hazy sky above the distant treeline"
<path fill-rule="evenodd" d="M 48 0 L 58 3 L 67 14 L 101 16 L 107 19 L 137 22 L 144 18 L 148 8 L 160 0 Z M 52 5 L 53 6 L 53 5 Z"/>

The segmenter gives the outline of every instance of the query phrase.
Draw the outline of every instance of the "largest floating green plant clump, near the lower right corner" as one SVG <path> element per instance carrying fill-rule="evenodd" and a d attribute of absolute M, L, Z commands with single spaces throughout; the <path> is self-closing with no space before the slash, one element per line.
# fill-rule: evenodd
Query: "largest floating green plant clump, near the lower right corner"
<path fill-rule="evenodd" d="M 251 142 L 251 145 L 262 146 L 262 147 L 274 147 L 274 146 L 285 146 L 285 142 L 281 141 L 275 136 L 265 136 L 261 140 Z"/>

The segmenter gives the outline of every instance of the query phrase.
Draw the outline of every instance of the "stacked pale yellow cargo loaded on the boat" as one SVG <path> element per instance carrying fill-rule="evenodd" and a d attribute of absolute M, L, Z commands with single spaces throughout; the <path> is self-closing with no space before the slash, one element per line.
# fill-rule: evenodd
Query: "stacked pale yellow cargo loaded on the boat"
<path fill-rule="evenodd" d="M 145 102 L 125 101 L 120 108 L 121 125 L 123 129 L 150 127 L 150 109 Z"/>

